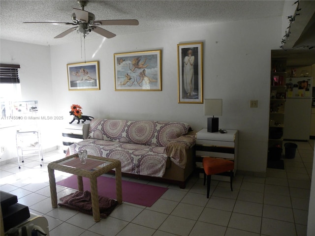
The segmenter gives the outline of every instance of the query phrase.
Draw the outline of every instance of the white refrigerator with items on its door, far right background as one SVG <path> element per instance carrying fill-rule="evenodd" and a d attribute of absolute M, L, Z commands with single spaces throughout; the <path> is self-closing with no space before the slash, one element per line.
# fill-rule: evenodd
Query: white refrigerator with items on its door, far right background
<path fill-rule="evenodd" d="M 310 139 L 312 112 L 311 77 L 286 78 L 284 105 L 284 139 Z"/>

